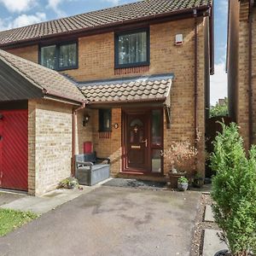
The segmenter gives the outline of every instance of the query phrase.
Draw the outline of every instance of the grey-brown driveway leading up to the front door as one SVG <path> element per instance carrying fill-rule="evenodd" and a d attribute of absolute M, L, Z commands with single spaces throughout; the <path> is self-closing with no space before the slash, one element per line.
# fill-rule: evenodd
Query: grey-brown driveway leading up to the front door
<path fill-rule="evenodd" d="M 186 256 L 199 198 L 101 187 L 0 238 L 0 254 Z"/>

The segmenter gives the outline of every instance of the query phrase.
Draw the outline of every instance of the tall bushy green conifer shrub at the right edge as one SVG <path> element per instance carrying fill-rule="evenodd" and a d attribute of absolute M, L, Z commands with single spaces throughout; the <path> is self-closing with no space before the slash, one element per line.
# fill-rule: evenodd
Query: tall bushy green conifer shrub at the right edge
<path fill-rule="evenodd" d="M 256 253 L 256 148 L 243 148 L 238 127 L 221 124 L 211 156 L 212 209 L 222 239 L 236 256 Z"/>

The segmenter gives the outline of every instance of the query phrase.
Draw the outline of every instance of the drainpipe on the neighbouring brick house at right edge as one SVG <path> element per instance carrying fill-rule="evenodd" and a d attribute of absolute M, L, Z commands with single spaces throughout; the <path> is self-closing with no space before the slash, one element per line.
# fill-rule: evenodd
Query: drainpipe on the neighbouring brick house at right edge
<path fill-rule="evenodd" d="M 253 143 L 253 0 L 249 6 L 249 49 L 248 49 L 248 112 L 249 112 L 249 147 Z"/>

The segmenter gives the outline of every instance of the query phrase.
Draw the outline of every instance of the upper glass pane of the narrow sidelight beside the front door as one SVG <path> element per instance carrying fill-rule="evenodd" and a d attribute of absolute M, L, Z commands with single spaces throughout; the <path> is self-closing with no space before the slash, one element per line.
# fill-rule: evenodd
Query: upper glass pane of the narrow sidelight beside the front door
<path fill-rule="evenodd" d="M 161 145 L 161 111 L 160 109 L 152 111 L 152 143 Z"/>

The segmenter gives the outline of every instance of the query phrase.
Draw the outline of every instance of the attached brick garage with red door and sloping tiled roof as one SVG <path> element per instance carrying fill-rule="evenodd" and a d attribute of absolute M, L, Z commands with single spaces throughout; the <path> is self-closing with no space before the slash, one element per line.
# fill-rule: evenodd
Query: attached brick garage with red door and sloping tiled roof
<path fill-rule="evenodd" d="M 69 177 L 84 106 L 73 81 L 0 49 L 0 189 L 42 195 Z"/>

